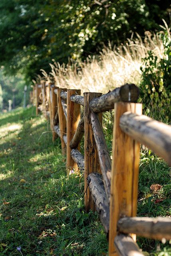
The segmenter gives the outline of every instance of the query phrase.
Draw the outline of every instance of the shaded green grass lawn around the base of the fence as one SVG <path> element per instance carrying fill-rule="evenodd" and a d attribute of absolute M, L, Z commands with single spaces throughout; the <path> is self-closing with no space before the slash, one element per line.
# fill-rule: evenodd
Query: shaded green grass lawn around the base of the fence
<path fill-rule="evenodd" d="M 104 130 L 111 151 L 110 118 L 104 116 Z M 59 138 L 52 143 L 49 123 L 33 107 L 0 116 L 0 255 L 21 255 L 18 246 L 24 256 L 107 255 L 98 215 L 84 210 L 83 179 L 68 177 L 65 166 Z M 153 183 L 163 185 L 159 194 L 151 193 Z M 167 164 L 142 151 L 138 215 L 170 216 L 170 186 Z M 171 255 L 169 242 L 138 243 L 151 256 Z"/>

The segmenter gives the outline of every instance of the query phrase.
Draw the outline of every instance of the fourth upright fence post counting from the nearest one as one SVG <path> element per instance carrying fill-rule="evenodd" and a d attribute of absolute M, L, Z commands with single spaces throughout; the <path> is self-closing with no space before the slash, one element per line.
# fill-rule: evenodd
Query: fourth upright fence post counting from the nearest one
<path fill-rule="evenodd" d="M 61 102 L 62 99 L 60 96 L 60 93 L 62 90 L 66 90 L 66 89 L 59 88 L 57 91 L 57 101 L 58 101 L 58 116 L 59 116 L 59 125 L 60 125 L 62 155 L 64 156 L 66 154 L 66 144 L 64 142 L 63 136 L 64 134 L 66 134 L 66 117 L 64 115 L 64 110 Z"/>

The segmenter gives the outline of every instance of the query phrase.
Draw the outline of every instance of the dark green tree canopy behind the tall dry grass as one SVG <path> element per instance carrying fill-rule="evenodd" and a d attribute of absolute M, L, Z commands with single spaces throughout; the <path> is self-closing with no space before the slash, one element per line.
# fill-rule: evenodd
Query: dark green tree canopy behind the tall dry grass
<path fill-rule="evenodd" d="M 1 0 L 0 64 L 31 80 L 49 62 L 96 54 L 108 40 L 158 30 L 169 0 Z"/>

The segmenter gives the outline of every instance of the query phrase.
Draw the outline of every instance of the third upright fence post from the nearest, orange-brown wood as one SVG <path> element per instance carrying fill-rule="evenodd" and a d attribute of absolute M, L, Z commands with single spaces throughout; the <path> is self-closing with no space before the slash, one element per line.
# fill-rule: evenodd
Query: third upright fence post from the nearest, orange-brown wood
<path fill-rule="evenodd" d="M 71 95 L 81 94 L 81 90 L 68 90 L 67 91 L 67 172 L 70 173 L 70 170 L 73 169 L 74 172 L 78 172 L 78 165 L 74 162 L 71 157 L 71 148 L 70 142 L 76 132 L 78 122 L 80 120 L 80 105 L 72 102 L 70 100 Z M 79 149 L 79 145 L 78 145 Z"/>

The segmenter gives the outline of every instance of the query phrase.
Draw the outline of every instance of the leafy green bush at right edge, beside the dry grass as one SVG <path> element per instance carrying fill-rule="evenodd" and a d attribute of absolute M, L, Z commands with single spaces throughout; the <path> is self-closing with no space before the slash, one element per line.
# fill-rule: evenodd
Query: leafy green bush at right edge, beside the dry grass
<path fill-rule="evenodd" d="M 163 122 L 171 120 L 171 36 L 159 35 L 164 45 L 164 56 L 157 58 L 151 50 L 143 59 L 140 84 L 143 109 Z"/>

